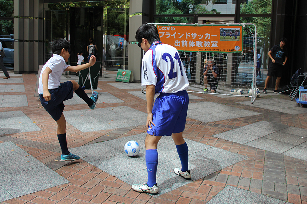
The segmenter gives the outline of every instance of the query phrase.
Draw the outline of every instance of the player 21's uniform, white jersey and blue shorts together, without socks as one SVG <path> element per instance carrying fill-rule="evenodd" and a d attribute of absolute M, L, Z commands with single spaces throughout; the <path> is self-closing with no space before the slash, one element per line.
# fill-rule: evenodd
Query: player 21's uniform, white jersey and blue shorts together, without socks
<path fill-rule="evenodd" d="M 180 55 L 173 46 L 154 42 L 142 60 L 142 86 L 154 85 L 160 95 L 153 104 L 152 129 L 154 136 L 171 136 L 183 132 L 187 118 L 189 97 L 188 78 Z"/>

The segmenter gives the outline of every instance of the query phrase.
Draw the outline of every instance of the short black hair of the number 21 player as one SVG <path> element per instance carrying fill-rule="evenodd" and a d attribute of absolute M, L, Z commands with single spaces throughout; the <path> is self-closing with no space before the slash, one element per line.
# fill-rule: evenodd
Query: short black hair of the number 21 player
<path fill-rule="evenodd" d="M 148 43 L 151 45 L 153 42 L 160 40 L 158 29 L 154 25 L 141 25 L 135 34 L 135 40 L 137 42 L 142 42 L 142 38 L 148 40 Z"/>

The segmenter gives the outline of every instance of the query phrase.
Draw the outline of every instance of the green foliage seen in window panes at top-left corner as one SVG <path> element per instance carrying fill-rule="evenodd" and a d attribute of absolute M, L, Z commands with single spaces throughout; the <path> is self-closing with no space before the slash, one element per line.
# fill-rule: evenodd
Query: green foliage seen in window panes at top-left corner
<path fill-rule="evenodd" d="M 0 17 L 13 17 L 14 2 L 11 0 L 0 0 Z M 10 35 L 14 33 L 13 20 L 0 20 L 0 35 Z"/>

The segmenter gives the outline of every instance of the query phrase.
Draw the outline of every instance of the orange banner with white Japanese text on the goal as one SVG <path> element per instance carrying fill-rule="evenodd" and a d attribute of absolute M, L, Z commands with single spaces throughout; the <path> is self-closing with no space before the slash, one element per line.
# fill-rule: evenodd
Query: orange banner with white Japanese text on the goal
<path fill-rule="evenodd" d="M 242 52 L 242 26 L 159 25 L 162 43 L 179 51 Z"/>

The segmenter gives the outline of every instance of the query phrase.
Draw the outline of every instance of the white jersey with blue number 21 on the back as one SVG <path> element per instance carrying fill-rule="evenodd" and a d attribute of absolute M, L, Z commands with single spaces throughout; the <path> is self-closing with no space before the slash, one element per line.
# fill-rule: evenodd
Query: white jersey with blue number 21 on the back
<path fill-rule="evenodd" d="M 177 93 L 188 89 L 177 49 L 160 41 L 154 42 L 142 59 L 142 86 L 155 86 L 155 93 Z"/>

